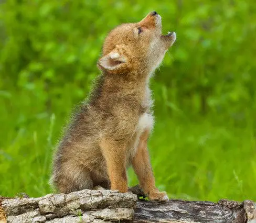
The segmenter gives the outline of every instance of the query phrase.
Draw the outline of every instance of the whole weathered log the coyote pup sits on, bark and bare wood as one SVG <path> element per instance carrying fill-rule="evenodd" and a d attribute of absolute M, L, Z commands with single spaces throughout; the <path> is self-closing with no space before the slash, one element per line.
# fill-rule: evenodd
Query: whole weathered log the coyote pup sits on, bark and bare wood
<path fill-rule="evenodd" d="M 142 191 L 130 191 L 143 196 Z M 0 197 L 0 222 L 256 222 L 256 204 L 228 200 L 153 203 L 132 193 L 84 189 L 38 198 Z"/>

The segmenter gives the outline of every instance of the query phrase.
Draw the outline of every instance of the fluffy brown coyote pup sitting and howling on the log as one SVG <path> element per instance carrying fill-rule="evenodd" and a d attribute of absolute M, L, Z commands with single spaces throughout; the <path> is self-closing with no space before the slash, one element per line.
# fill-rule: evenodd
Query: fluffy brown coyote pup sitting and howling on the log
<path fill-rule="evenodd" d="M 60 192 L 97 185 L 127 192 L 126 168 L 132 165 L 150 199 L 168 199 L 155 186 L 147 151 L 154 124 L 149 82 L 175 39 L 175 32 L 162 35 L 156 12 L 109 33 L 98 61 L 102 74 L 55 154 L 51 182 Z"/>

